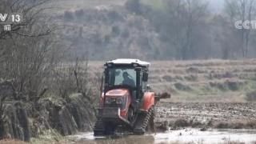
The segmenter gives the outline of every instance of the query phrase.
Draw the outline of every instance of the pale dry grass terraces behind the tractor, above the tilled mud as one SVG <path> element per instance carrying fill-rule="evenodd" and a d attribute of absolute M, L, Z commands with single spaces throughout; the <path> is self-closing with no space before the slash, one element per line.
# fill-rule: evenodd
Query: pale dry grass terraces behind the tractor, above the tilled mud
<path fill-rule="evenodd" d="M 90 62 L 90 73 L 100 74 L 103 63 Z M 172 102 L 247 102 L 256 89 L 256 59 L 151 62 L 149 79 Z"/>

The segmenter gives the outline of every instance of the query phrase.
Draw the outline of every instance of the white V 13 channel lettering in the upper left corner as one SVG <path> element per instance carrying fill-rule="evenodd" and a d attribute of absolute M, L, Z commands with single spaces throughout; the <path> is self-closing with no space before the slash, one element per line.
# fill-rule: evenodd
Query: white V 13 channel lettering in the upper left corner
<path fill-rule="evenodd" d="M 22 22 L 22 14 L 0 14 L 0 23 L 19 23 Z"/>

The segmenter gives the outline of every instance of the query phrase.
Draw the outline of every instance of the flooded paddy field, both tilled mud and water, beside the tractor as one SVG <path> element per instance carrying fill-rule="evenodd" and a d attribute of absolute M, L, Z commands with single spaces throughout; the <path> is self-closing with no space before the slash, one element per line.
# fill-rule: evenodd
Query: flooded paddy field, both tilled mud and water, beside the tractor
<path fill-rule="evenodd" d="M 69 136 L 73 143 L 256 143 L 254 103 L 159 102 L 155 134 L 94 137 Z"/>

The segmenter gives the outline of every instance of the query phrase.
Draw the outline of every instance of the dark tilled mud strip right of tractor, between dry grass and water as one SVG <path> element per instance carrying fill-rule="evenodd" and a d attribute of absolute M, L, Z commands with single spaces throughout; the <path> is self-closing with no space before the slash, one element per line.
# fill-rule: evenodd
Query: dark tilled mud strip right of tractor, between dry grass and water
<path fill-rule="evenodd" d="M 256 128 L 256 103 L 159 102 L 156 125 L 160 129 L 180 127 Z"/>

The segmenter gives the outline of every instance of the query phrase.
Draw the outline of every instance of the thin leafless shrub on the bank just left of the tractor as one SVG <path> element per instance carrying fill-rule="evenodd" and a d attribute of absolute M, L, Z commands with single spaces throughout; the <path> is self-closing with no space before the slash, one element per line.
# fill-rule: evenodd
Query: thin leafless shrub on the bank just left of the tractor
<path fill-rule="evenodd" d="M 75 62 L 60 63 L 54 70 L 51 78 L 51 87 L 54 95 L 60 95 L 62 98 L 68 98 L 72 93 L 82 93 L 84 98 L 94 102 L 96 94 L 99 94 L 100 78 L 90 79 L 88 73 L 88 60 L 76 58 Z"/>

